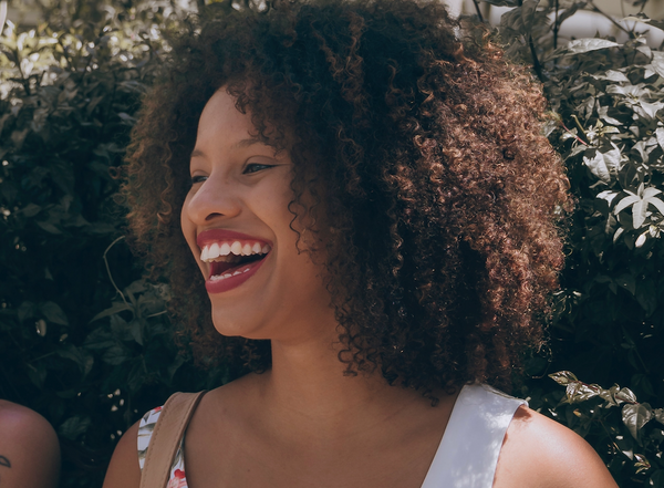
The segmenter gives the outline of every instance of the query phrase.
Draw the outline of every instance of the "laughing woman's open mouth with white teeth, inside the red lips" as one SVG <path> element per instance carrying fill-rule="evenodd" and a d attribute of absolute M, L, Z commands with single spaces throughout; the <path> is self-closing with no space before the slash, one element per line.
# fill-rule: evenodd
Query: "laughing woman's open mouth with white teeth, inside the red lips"
<path fill-rule="evenodd" d="M 210 264 L 208 280 L 218 282 L 248 272 L 270 249 L 269 245 L 258 241 L 219 241 L 205 245 L 200 260 Z"/>

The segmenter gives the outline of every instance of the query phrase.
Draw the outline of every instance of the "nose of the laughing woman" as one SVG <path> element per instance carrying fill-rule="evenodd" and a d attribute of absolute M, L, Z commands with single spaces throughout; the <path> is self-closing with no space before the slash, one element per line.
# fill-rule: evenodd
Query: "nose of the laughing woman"
<path fill-rule="evenodd" d="M 225 175 L 214 173 L 205 181 L 194 185 L 183 208 L 183 216 L 196 225 L 216 219 L 230 219 L 241 212 L 238 186 Z"/>

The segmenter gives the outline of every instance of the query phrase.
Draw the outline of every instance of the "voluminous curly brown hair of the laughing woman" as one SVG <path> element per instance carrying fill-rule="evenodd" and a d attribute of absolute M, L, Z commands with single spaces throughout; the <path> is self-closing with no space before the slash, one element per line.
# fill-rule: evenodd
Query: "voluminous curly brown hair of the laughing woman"
<path fill-rule="evenodd" d="M 173 41 L 127 156 L 131 230 L 197 355 L 241 374 L 269 367 L 269 341 L 216 332 L 178 218 L 220 87 L 294 163 L 289 208 L 322 242 L 346 372 L 509 388 L 558 285 L 569 187 L 528 72 L 435 1 L 272 2 Z"/>

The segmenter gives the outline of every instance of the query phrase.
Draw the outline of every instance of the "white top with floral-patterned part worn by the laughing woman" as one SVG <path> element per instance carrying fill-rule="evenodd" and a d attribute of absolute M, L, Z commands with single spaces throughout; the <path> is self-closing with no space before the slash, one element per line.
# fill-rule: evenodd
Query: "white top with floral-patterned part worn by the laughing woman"
<path fill-rule="evenodd" d="M 517 408 L 525 404 L 526 401 L 487 385 L 464 386 L 422 488 L 491 488 L 505 433 Z M 154 408 L 141 420 L 141 469 L 160 411 L 162 407 Z M 183 448 L 184 437 L 173 460 L 167 488 L 187 488 Z"/>

